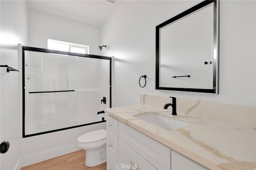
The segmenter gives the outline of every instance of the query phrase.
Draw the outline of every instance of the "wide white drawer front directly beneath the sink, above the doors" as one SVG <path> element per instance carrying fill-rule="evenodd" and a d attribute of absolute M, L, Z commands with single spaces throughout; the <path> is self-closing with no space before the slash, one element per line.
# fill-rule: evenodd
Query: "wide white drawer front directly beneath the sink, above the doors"
<path fill-rule="evenodd" d="M 119 121 L 118 137 L 157 169 L 170 169 L 170 148 Z"/>

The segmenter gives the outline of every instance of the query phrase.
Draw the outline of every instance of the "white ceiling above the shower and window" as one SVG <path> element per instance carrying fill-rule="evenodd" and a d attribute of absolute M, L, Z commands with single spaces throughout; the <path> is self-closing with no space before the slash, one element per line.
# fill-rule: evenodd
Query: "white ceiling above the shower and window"
<path fill-rule="evenodd" d="M 102 26 L 122 4 L 106 0 L 28 0 L 28 8 L 94 26 Z"/>

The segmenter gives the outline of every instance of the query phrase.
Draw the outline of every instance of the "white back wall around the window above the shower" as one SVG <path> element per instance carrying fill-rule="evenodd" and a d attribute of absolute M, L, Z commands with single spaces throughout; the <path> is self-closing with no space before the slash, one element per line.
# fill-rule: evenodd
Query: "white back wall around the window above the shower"
<path fill-rule="evenodd" d="M 47 49 L 47 39 L 89 46 L 89 53 L 100 55 L 100 28 L 58 16 L 29 10 L 28 45 Z"/>

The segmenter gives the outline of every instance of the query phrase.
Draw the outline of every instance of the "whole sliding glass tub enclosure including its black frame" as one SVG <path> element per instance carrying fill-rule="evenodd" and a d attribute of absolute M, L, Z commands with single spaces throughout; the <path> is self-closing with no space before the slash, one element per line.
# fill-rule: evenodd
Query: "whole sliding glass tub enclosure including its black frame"
<path fill-rule="evenodd" d="M 106 122 L 111 57 L 22 47 L 22 136 Z"/>

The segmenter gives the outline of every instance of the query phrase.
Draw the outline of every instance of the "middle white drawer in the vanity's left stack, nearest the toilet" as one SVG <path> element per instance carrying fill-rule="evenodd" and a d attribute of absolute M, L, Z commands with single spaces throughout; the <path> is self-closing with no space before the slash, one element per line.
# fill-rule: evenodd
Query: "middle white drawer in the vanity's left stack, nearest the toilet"
<path fill-rule="evenodd" d="M 118 138 L 110 131 L 107 132 L 107 152 L 112 156 L 114 161 L 118 162 Z"/>

